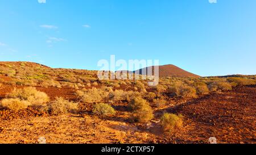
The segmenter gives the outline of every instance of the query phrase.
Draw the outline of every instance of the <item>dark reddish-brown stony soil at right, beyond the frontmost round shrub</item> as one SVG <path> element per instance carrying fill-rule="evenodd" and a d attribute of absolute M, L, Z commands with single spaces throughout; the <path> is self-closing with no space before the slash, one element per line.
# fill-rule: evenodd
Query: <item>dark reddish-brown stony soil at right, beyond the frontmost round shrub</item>
<path fill-rule="evenodd" d="M 237 87 L 225 93 L 191 100 L 166 111 L 184 116 L 187 129 L 179 133 L 181 141 L 205 143 L 209 137 L 216 137 L 218 143 L 255 144 L 255 94 L 255 86 Z"/>

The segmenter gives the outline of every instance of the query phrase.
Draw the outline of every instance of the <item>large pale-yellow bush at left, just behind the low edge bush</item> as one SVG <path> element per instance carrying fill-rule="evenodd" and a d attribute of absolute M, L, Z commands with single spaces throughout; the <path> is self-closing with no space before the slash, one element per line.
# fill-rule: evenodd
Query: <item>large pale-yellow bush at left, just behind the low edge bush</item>
<path fill-rule="evenodd" d="M 44 106 L 49 101 L 48 95 L 36 90 L 35 87 L 14 89 L 10 94 L 7 94 L 7 98 L 19 98 L 21 100 L 27 100 L 34 106 Z"/>

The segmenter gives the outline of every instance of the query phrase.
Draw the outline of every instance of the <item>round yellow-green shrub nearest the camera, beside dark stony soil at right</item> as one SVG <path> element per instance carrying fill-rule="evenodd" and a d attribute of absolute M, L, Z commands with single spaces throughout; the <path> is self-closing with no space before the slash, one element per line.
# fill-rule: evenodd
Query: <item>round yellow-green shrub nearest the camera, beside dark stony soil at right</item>
<path fill-rule="evenodd" d="M 183 126 L 183 116 L 165 113 L 161 117 L 161 124 L 165 131 L 172 132 L 174 129 Z"/>

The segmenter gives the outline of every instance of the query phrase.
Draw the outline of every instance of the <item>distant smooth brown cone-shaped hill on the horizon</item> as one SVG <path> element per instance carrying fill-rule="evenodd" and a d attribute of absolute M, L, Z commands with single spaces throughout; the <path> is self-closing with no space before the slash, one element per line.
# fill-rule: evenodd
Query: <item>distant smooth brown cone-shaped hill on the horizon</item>
<path fill-rule="evenodd" d="M 152 69 L 152 74 L 154 74 L 154 68 L 155 68 L 155 66 L 150 66 L 150 67 L 143 68 L 143 69 Z M 128 71 L 128 73 L 139 72 L 139 74 L 142 74 L 143 69 L 139 69 L 139 70 L 135 70 L 135 71 Z M 124 72 L 124 70 L 117 71 L 117 72 L 122 73 L 122 72 Z M 162 65 L 162 66 L 159 66 L 159 77 L 200 77 L 200 76 L 197 76 L 196 74 L 187 72 L 181 68 L 178 68 L 175 65 Z"/>

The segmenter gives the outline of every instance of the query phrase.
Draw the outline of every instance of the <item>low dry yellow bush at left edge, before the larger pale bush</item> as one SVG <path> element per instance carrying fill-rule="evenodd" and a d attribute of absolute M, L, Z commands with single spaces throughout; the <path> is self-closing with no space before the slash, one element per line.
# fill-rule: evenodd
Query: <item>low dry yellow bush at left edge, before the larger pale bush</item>
<path fill-rule="evenodd" d="M 9 108 L 10 110 L 19 111 L 26 109 L 31 103 L 27 100 L 20 100 L 18 98 L 3 99 L 0 106 Z"/>

